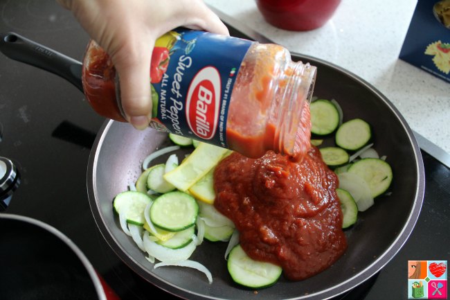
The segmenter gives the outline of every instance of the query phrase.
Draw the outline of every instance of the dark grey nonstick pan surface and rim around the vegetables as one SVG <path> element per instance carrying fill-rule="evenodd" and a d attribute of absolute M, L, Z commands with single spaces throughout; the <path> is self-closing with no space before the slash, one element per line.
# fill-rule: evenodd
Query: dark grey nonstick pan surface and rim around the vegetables
<path fill-rule="evenodd" d="M 280 279 L 271 288 L 246 290 L 233 284 L 224 261 L 225 242 L 204 242 L 192 259 L 206 265 L 214 282 L 188 268 L 153 270 L 131 238 L 120 229 L 111 202 L 141 173 L 143 158 L 170 145 L 167 135 L 138 132 L 125 123 L 105 121 L 89 159 L 87 186 L 94 218 L 118 256 L 150 283 L 186 299 L 326 299 L 354 288 L 386 265 L 413 230 L 424 197 L 424 167 L 411 129 L 397 109 L 374 87 L 352 73 L 302 55 L 295 60 L 318 67 L 314 95 L 336 99 L 344 121 L 359 117 L 373 126 L 375 148 L 393 167 L 392 195 L 380 197 L 357 224 L 345 231 L 348 249 L 328 270 L 305 281 Z M 327 139 L 326 144 L 332 144 Z"/>

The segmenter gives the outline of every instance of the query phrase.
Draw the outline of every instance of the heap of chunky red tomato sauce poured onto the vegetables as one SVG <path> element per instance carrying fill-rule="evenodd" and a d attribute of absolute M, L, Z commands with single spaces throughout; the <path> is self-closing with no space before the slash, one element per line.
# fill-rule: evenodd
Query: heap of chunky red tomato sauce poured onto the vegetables
<path fill-rule="evenodd" d="M 247 255 L 298 281 L 345 252 L 337 184 L 316 147 L 299 163 L 271 151 L 260 159 L 235 152 L 215 169 L 214 205 L 235 223 Z"/>

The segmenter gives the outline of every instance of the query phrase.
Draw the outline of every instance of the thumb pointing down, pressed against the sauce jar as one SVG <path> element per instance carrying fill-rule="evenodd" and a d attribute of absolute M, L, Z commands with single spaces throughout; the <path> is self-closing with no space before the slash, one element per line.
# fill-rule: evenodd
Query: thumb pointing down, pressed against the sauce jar
<path fill-rule="evenodd" d="M 152 118 L 150 62 L 154 43 L 136 43 L 111 56 L 120 84 L 120 103 L 127 121 L 144 130 Z"/>

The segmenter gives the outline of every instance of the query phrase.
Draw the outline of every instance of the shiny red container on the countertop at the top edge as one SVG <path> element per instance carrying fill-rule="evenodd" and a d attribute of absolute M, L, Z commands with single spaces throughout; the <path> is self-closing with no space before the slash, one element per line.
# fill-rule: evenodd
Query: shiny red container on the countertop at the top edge
<path fill-rule="evenodd" d="M 267 22 L 287 30 L 312 30 L 323 26 L 341 0 L 256 0 Z"/>

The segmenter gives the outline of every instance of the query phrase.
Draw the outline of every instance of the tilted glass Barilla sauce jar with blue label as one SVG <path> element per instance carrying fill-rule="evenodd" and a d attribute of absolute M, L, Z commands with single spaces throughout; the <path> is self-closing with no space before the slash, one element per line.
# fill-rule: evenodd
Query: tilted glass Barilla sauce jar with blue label
<path fill-rule="evenodd" d="M 96 112 L 125 122 L 116 70 L 91 41 L 84 94 Z M 157 39 L 150 67 L 149 126 L 235 150 L 303 157 L 316 67 L 293 62 L 276 44 L 179 28 Z"/>

